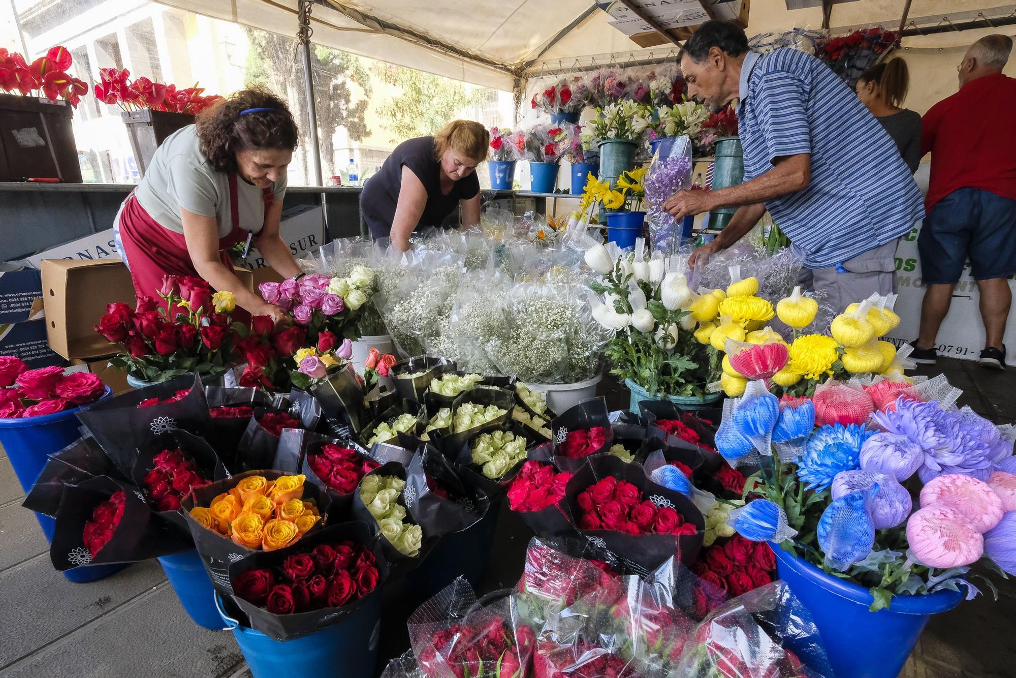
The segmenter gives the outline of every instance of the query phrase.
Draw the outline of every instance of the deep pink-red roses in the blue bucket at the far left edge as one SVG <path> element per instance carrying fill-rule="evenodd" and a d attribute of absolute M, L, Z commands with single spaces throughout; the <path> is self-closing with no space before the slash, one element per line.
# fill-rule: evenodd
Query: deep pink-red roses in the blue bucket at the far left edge
<path fill-rule="evenodd" d="M 109 388 L 91 372 L 62 367 L 29 370 L 20 358 L 0 356 L 0 419 L 43 417 L 94 403 Z"/>

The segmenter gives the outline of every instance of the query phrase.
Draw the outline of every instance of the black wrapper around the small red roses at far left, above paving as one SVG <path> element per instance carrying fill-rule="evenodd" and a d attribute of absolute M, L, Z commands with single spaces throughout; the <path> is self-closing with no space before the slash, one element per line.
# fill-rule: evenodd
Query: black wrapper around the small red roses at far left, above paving
<path fill-rule="evenodd" d="M 113 537 L 94 555 L 84 546 L 84 523 L 92 511 L 117 491 L 124 491 L 124 512 Z M 60 571 L 80 565 L 129 563 L 157 558 L 190 548 L 186 536 L 151 512 L 140 492 L 107 476 L 64 488 L 57 509 L 50 560 Z"/>

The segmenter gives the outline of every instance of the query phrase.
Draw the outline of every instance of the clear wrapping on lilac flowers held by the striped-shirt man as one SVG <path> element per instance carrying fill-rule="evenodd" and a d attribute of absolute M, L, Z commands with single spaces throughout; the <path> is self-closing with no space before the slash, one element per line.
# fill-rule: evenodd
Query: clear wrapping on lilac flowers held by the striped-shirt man
<path fill-rule="evenodd" d="M 692 187 L 692 144 L 687 136 L 664 139 L 645 175 L 646 219 L 656 247 L 666 251 L 681 248 L 681 224 L 663 211 L 663 201 L 678 191 Z"/>

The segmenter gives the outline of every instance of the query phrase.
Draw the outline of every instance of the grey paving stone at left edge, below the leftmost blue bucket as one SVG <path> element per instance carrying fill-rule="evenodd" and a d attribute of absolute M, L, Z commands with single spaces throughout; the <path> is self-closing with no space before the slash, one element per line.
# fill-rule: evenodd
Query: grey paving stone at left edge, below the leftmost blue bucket
<path fill-rule="evenodd" d="M 6 675 L 4 667 L 8 664 L 165 580 L 163 568 L 151 560 L 99 581 L 73 583 L 53 568 L 49 553 L 0 572 L 0 610 L 4 617 L 0 625 L 0 675 Z M 136 637 L 129 632 L 130 628 L 123 626 L 121 632 Z M 62 671 L 44 673 L 75 675 Z"/>

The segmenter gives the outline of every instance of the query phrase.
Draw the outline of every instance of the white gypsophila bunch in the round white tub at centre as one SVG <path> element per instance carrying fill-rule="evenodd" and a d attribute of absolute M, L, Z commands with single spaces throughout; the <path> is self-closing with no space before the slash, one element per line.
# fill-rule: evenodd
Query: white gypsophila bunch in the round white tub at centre
<path fill-rule="evenodd" d="M 580 289 L 523 283 L 511 290 L 502 311 L 507 322 L 487 349 L 503 374 L 531 383 L 575 383 L 598 373 L 606 336 Z"/>

